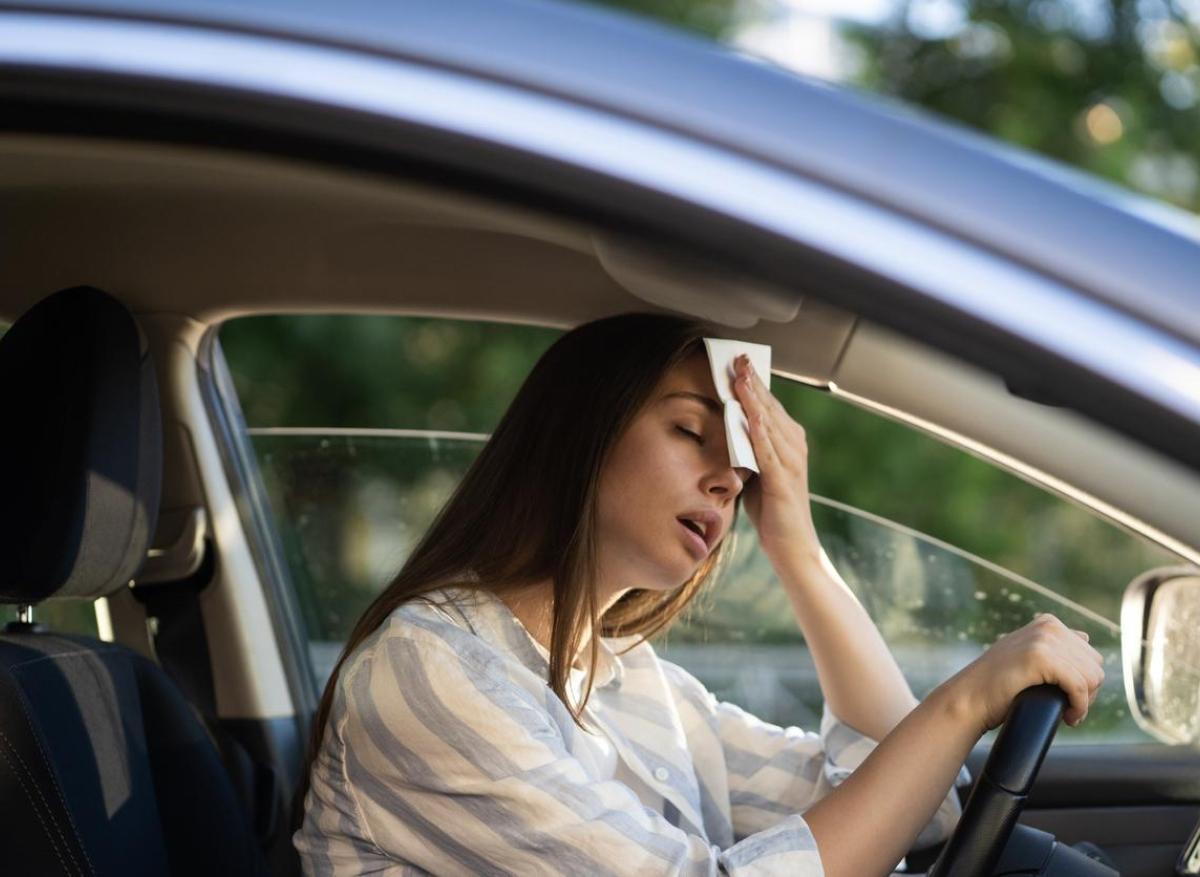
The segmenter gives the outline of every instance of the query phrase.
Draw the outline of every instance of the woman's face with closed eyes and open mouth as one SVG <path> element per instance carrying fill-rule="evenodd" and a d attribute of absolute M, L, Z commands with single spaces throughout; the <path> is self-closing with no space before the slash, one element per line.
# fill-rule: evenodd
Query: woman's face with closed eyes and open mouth
<path fill-rule="evenodd" d="M 600 475 L 604 587 L 664 590 L 686 582 L 728 533 L 751 475 L 730 465 L 707 356 L 668 371 Z"/>

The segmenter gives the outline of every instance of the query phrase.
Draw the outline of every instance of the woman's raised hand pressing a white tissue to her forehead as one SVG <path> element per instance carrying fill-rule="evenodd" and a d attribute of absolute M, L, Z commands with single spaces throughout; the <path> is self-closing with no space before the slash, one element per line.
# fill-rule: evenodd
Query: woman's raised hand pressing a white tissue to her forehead
<path fill-rule="evenodd" d="M 781 575 L 821 563 L 821 542 L 809 498 L 809 445 L 804 427 L 792 420 L 755 373 L 746 356 L 736 362 L 733 390 L 750 421 L 750 441 L 758 477 L 745 488 L 744 503 L 758 543 Z"/>

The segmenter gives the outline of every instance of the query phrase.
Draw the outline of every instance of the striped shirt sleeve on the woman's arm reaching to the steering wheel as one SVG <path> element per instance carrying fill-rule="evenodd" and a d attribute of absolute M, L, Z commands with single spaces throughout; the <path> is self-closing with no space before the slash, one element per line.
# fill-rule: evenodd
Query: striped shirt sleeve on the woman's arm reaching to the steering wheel
<path fill-rule="evenodd" d="M 434 873 L 822 876 L 802 816 L 722 851 L 592 779 L 502 653 L 466 632 L 419 633 L 349 666 L 335 710 L 340 816 L 382 857 Z"/>

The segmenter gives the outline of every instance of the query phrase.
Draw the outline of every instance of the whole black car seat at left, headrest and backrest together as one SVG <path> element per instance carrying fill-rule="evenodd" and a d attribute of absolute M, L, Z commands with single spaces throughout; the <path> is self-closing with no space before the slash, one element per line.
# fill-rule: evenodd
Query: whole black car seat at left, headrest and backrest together
<path fill-rule="evenodd" d="M 8 424 L 20 425 L 0 431 L 0 602 L 125 587 L 150 545 L 161 468 L 154 370 L 133 318 L 95 289 L 50 296 L 0 338 L 0 386 L 14 401 Z M 0 872 L 266 867 L 216 749 L 157 663 L 10 625 Z"/>

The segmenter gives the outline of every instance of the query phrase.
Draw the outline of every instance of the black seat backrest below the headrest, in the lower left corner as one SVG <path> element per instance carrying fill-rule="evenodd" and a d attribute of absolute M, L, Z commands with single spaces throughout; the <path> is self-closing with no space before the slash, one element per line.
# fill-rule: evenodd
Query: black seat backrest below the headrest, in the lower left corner
<path fill-rule="evenodd" d="M 224 768 L 156 663 L 85 637 L 0 637 L 6 875 L 254 875 Z"/>

